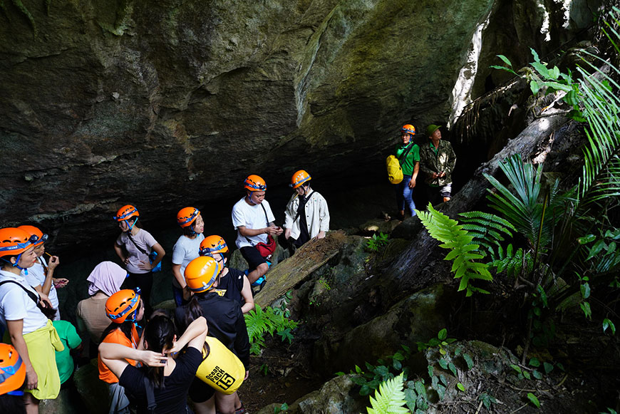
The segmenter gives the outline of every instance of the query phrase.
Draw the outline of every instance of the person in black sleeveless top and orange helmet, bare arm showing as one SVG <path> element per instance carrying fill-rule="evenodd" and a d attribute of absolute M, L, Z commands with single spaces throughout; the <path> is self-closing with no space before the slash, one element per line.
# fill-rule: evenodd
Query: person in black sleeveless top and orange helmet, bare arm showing
<path fill-rule="evenodd" d="M 252 286 L 243 271 L 227 266 L 229 253 L 224 239 L 215 234 L 205 237 L 200 243 L 200 256 L 210 256 L 224 267 L 219 275 L 218 291 L 224 291 L 224 298 L 239 302 L 242 312 L 247 314 L 254 309 Z"/>

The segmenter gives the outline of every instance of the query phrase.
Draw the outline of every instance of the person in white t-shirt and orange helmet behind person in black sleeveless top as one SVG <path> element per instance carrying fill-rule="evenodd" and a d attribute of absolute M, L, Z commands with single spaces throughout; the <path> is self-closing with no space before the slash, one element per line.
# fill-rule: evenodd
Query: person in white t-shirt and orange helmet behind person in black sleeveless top
<path fill-rule="evenodd" d="M 183 234 L 177 239 L 172 248 L 172 293 L 177 306 L 185 303 L 183 289 L 185 289 L 185 266 L 198 257 L 200 242 L 205 239 L 202 232 L 205 230 L 205 221 L 202 219 L 200 210 L 195 207 L 185 207 L 177 213 L 177 224 L 183 230 Z"/>

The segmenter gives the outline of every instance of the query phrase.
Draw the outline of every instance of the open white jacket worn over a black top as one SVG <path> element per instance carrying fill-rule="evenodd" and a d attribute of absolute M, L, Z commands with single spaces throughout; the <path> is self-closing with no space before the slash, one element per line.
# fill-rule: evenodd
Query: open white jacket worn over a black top
<path fill-rule="evenodd" d="M 310 197 L 305 207 L 308 233 L 310 237 L 315 237 L 319 232 L 327 232 L 329 230 L 329 209 L 327 208 L 327 202 L 318 192 L 310 189 L 306 197 Z M 297 207 L 299 207 L 299 196 L 294 194 L 284 211 L 284 227 L 291 229 L 291 237 L 293 239 L 299 238 L 299 234 L 301 234 L 301 229 L 299 228 L 301 220 L 299 217 L 295 220 Z"/>

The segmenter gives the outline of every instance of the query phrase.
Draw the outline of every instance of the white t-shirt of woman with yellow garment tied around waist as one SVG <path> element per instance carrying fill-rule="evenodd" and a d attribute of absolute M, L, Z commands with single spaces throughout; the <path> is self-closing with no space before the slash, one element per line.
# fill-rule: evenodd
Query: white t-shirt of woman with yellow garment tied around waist
<path fill-rule="evenodd" d="M 29 285 L 23 276 L 0 270 L 0 281 L 12 280 L 32 291 L 38 297 L 38 293 Z M 47 324 L 47 318 L 43 315 L 30 296 L 24 289 L 14 283 L 5 283 L 0 286 L 0 323 L 4 326 L 6 321 L 24 320 L 22 334 L 31 333 Z"/>

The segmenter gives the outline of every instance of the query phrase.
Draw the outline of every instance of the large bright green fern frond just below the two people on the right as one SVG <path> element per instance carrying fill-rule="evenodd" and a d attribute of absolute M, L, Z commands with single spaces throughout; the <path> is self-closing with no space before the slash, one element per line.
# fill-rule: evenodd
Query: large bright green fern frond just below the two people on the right
<path fill-rule="evenodd" d="M 466 291 L 466 296 L 471 296 L 473 292 L 488 294 L 488 291 L 472 286 L 472 279 L 482 279 L 490 281 L 493 279 L 488 271 L 488 264 L 477 262 L 484 259 L 484 255 L 480 254 L 479 244 L 473 243 L 474 237 L 458 224 L 454 219 L 450 219 L 447 215 L 438 212 L 430 203 L 428 210 L 421 212 L 416 210 L 420 221 L 428 230 L 428 234 L 433 239 L 442 242 L 440 247 L 450 249 L 445 256 L 445 260 L 452 260 L 452 271 L 455 279 L 460 279 L 458 286 L 459 291 Z"/>

